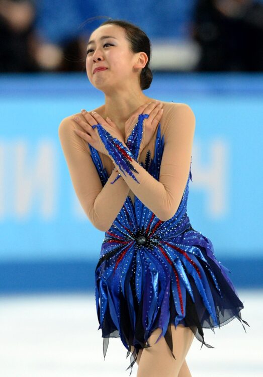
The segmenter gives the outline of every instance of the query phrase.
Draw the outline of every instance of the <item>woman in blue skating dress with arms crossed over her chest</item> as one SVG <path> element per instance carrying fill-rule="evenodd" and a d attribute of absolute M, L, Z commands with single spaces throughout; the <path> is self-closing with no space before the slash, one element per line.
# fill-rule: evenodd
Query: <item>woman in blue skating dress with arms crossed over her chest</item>
<path fill-rule="evenodd" d="M 243 304 L 187 216 L 195 116 L 187 104 L 144 95 L 150 55 L 130 23 L 94 30 L 86 72 L 105 104 L 64 118 L 59 138 L 81 206 L 105 232 L 95 271 L 104 357 L 120 337 L 137 377 L 188 377 L 194 335 L 211 347 L 203 328 L 243 321 Z"/>

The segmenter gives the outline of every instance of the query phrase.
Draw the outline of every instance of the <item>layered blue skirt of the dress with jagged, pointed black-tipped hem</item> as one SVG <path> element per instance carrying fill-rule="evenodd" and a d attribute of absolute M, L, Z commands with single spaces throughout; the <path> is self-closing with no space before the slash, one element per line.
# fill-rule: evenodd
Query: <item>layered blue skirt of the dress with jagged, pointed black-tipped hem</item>
<path fill-rule="evenodd" d="M 109 248 L 109 246 L 113 246 Z M 171 324 L 189 327 L 209 348 L 204 328 L 241 318 L 244 308 L 229 270 L 214 255 L 211 241 L 190 225 L 177 237 L 151 243 L 142 232 L 124 240 L 108 232 L 96 266 L 96 305 L 106 356 L 109 338 L 121 338 L 130 365 L 148 338 L 161 328 L 172 356 Z M 117 245 L 117 246 L 116 246 Z M 110 251 L 109 251 L 110 250 Z M 243 322 L 243 323 L 242 323 Z M 134 346 L 133 352 L 131 352 Z M 126 370 L 127 370 L 126 369 Z"/>

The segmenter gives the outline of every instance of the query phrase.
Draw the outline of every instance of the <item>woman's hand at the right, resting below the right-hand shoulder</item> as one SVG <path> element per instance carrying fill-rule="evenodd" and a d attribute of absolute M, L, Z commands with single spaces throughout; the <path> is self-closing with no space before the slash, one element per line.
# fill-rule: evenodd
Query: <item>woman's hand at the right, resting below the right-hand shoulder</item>
<path fill-rule="evenodd" d="M 136 123 L 138 122 L 138 116 L 140 114 L 149 114 L 148 118 L 143 120 L 143 135 L 140 144 L 140 151 L 150 142 L 156 127 L 158 126 L 163 114 L 163 104 L 160 101 L 154 101 L 141 105 L 125 122 L 125 143 L 132 133 Z"/>

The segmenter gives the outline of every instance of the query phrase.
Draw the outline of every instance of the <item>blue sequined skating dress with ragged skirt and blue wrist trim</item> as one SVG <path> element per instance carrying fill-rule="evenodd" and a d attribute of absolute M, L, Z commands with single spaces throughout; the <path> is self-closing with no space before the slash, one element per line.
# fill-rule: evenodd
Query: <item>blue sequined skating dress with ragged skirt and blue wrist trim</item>
<path fill-rule="evenodd" d="M 139 115 L 126 143 L 128 149 L 100 124 L 92 126 L 98 128 L 119 169 L 135 180 L 129 156 L 137 161 L 144 118 L 147 115 Z M 90 144 L 89 148 L 105 185 L 108 173 L 98 151 Z M 148 150 L 145 162 L 140 163 L 157 180 L 163 149 L 159 124 L 154 158 Z M 159 220 L 136 196 L 134 204 L 128 196 L 105 233 L 95 270 L 98 330 L 104 338 L 104 358 L 109 338 L 121 338 L 128 350 L 126 357 L 131 354 L 130 375 L 139 349 L 150 346 L 147 339 L 157 327 L 162 329 L 157 341 L 164 336 L 172 353 L 171 324 L 190 327 L 201 348 L 203 344 L 214 348 L 205 342 L 203 328 L 214 331 L 234 318 L 249 326 L 241 318 L 243 304 L 228 276 L 230 271 L 216 259 L 212 242 L 191 226 L 187 215 L 190 179 L 191 166 L 180 206 L 171 219 Z"/>

